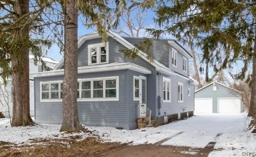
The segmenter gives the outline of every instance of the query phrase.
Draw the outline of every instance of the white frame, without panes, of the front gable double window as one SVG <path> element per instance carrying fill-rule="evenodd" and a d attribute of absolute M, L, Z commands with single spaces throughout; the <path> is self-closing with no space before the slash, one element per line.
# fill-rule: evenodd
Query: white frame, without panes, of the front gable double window
<path fill-rule="evenodd" d="M 91 63 L 91 48 L 96 48 L 96 63 Z M 106 61 L 101 63 L 101 47 L 106 48 Z M 98 43 L 98 44 L 89 44 L 88 45 L 88 65 L 98 65 L 98 64 L 106 64 L 109 63 L 109 42 L 106 43 Z"/>

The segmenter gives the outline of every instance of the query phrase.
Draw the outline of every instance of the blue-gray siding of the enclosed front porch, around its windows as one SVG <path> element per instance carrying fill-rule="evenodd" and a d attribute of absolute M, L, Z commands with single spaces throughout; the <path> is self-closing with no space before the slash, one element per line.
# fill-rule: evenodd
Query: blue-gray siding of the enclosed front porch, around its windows
<path fill-rule="evenodd" d="M 135 129 L 137 126 L 137 102 L 129 102 L 132 91 L 130 78 L 143 75 L 131 70 L 117 70 L 101 73 L 78 74 L 78 79 L 119 76 L 119 101 L 78 101 L 79 121 L 87 126 L 113 126 Z M 61 124 L 62 102 L 40 102 L 40 82 L 63 80 L 63 76 L 35 78 L 36 122 Z M 132 79 L 133 80 L 133 79 Z M 132 123 L 131 125 L 129 123 Z"/>

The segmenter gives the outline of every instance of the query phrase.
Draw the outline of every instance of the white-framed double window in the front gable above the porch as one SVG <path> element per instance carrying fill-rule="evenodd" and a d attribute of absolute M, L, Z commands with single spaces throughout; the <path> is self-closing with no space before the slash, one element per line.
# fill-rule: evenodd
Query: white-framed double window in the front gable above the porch
<path fill-rule="evenodd" d="M 109 43 L 88 45 L 88 65 L 109 63 Z"/>

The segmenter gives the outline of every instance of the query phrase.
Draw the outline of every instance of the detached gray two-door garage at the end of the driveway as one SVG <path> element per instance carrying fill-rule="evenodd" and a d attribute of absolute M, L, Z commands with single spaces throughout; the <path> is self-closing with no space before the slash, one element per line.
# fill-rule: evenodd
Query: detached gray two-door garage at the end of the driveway
<path fill-rule="evenodd" d="M 212 82 L 195 92 L 195 113 L 241 113 L 240 99 L 237 90 Z"/>

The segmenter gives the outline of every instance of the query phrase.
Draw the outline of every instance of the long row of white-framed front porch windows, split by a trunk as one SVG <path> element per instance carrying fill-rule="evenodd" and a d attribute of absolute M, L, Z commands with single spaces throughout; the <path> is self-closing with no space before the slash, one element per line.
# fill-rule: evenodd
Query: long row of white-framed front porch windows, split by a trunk
<path fill-rule="evenodd" d="M 119 100 L 119 77 L 78 80 L 78 101 Z M 41 83 L 41 101 L 62 101 L 63 82 Z"/>

